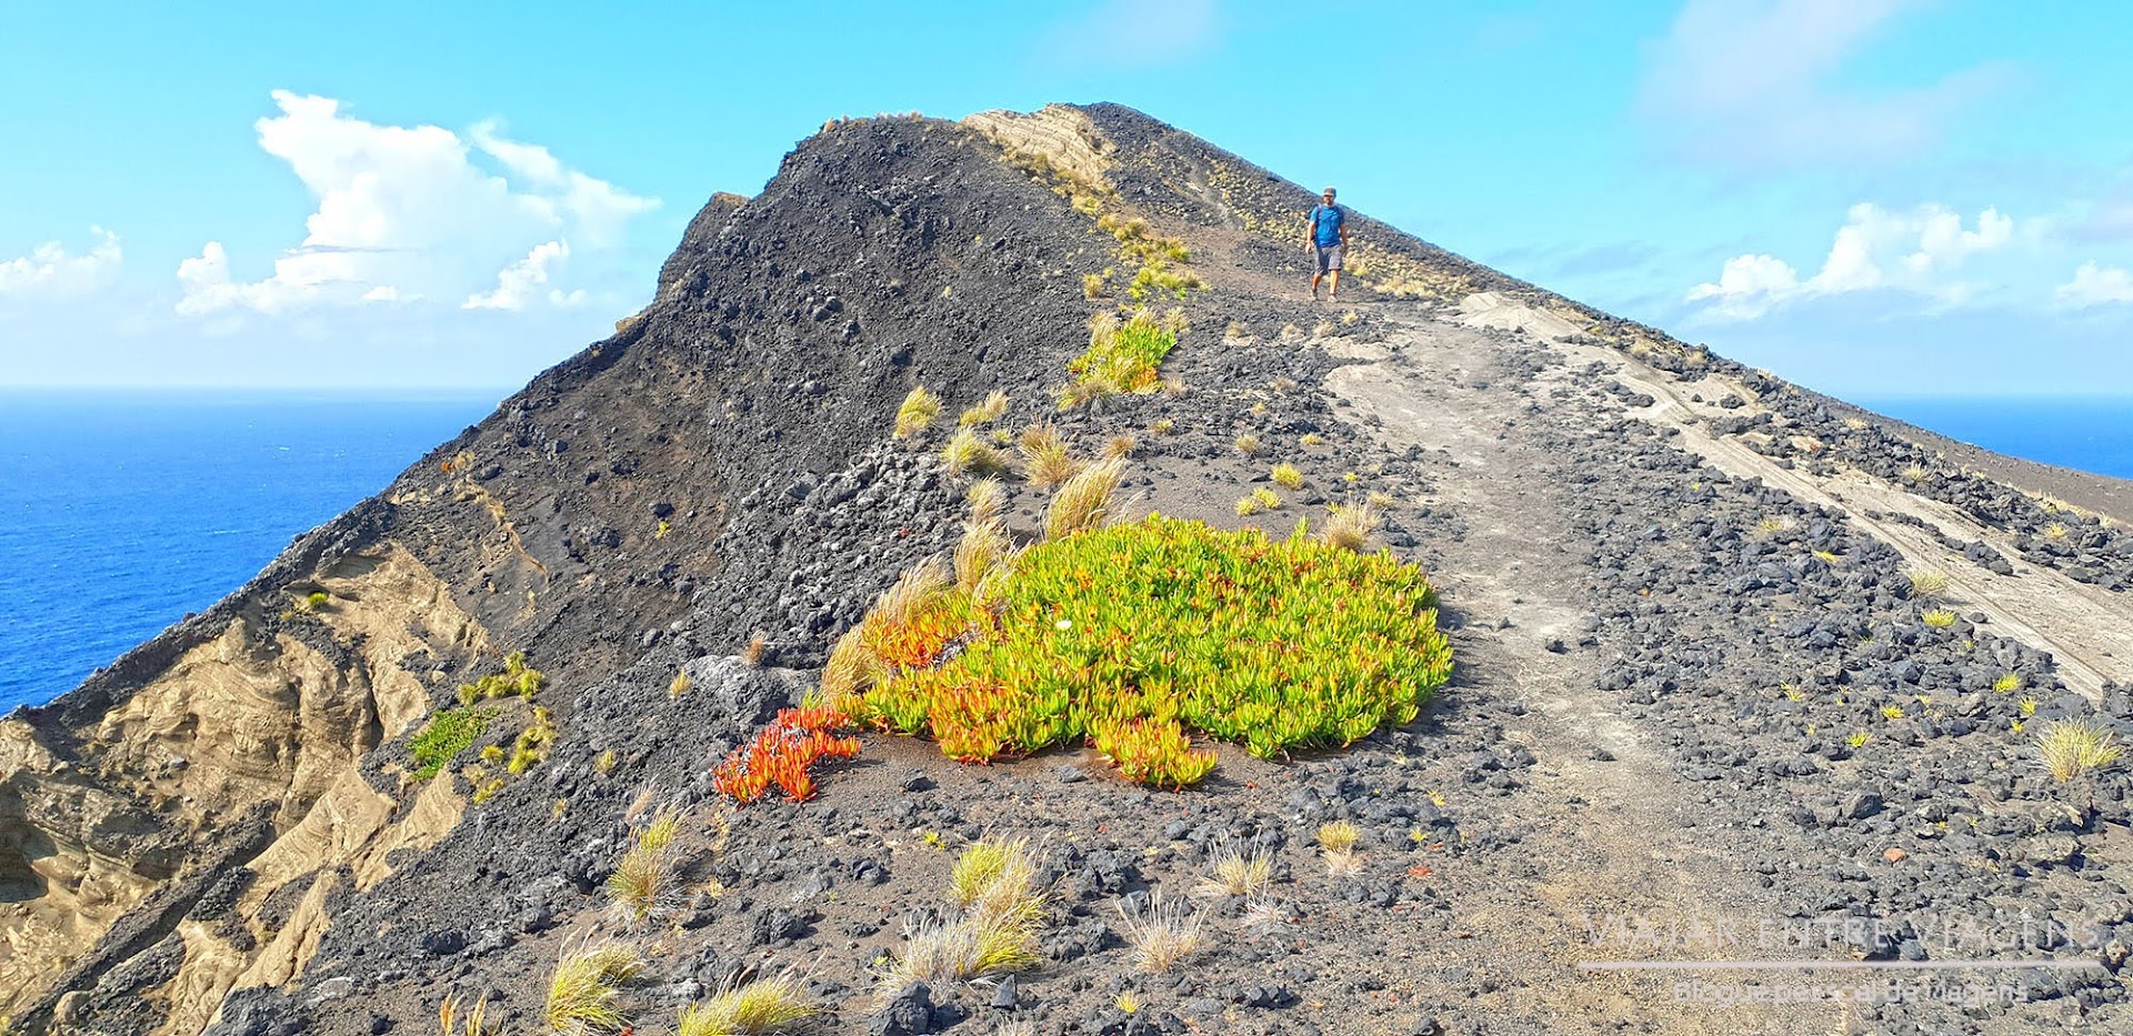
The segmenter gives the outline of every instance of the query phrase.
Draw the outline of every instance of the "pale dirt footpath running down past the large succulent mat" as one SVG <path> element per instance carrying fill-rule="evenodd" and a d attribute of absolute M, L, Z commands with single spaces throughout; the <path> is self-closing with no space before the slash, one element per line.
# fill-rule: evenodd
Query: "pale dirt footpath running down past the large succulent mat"
<path fill-rule="evenodd" d="M 1717 844 L 1694 821 L 1696 791 L 1647 744 L 1647 731 L 1595 695 L 1600 659 L 1551 650 L 1576 642 L 1589 614 L 1583 565 L 1561 492 L 1557 460 L 1525 435 L 1519 418 L 1476 424 L 1476 414 L 1517 416 L 1553 403 L 1502 371 L 1504 345 L 1455 324 L 1395 322 L 1376 345 L 1333 345 L 1342 367 L 1327 388 L 1393 448 L 1444 450 L 1446 471 L 1431 505 L 1465 522 L 1468 535 L 1431 541 L 1433 578 L 1463 616 L 1455 633 L 1461 680 L 1527 708 L 1506 729 L 1540 767 L 1521 808 L 1538 863 L 1465 921 L 1478 940 L 1529 964 L 1521 1004 L 1551 1032 L 1704 1032 L 1709 1006 L 1674 1002 L 1670 981 L 1585 972 L 1598 959 L 1645 957 L 1595 944 L 1587 917 L 1649 919 L 1768 917 L 1758 876 L 1736 846 Z M 1493 399 L 1491 399 L 1493 396 Z M 1499 620 L 1508 620 L 1504 627 Z M 1523 887 L 1521 887 L 1523 885 Z M 1696 953 L 1649 953 L 1694 957 Z M 1730 1032 L 1830 1032 L 1837 1008 L 1787 1006 L 1728 1013 Z"/>

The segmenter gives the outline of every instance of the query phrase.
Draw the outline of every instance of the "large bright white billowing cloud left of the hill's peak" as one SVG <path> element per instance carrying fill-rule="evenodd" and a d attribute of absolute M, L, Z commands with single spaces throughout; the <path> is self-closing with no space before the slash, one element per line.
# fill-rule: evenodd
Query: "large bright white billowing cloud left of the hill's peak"
<path fill-rule="evenodd" d="M 533 260 L 529 247 L 559 245 L 565 234 L 610 247 L 631 217 L 659 205 L 572 171 L 544 147 L 503 141 L 488 124 L 469 134 L 469 147 L 439 126 L 350 117 L 333 98 L 273 98 L 282 111 L 258 119 L 258 145 L 318 198 L 303 243 L 275 258 L 271 275 L 243 281 L 232 279 L 224 247 L 209 241 L 177 269 L 179 313 L 471 301 L 491 281 L 491 294 L 518 298 L 506 294 L 508 277 Z M 476 164 L 480 156 L 501 171 Z M 535 273 L 542 284 L 552 275 L 546 266 Z M 518 305 L 531 298 L 540 296 Z M 550 290 L 548 298 L 570 294 Z"/>

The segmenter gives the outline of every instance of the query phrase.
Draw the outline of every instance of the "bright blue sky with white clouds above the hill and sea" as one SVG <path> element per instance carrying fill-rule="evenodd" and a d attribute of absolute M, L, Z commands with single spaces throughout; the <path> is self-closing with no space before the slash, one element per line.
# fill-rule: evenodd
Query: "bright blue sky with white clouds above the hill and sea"
<path fill-rule="evenodd" d="M 1118 100 L 1849 396 L 2133 394 L 2133 6 L 0 0 L 0 386 L 495 386 L 834 115 Z"/>

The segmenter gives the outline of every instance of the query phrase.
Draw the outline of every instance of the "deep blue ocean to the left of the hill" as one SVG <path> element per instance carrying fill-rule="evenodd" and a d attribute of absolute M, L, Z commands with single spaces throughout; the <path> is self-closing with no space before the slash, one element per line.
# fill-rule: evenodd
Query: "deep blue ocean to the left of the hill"
<path fill-rule="evenodd" d="M 0 392 L 0 712 L 215 603 L 506 394 Z"/>

